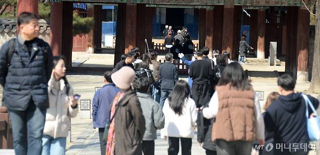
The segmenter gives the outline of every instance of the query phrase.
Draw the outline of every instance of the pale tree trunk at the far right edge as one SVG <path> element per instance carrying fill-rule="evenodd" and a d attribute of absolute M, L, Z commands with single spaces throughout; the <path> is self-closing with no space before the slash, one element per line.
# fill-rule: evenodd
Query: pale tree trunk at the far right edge
<path fill-rule="evenodd" d="M 320 0 L 317 0 L 316 6 L 315 51 L 313 54 L 311 86 L 308 89 L 311 93 L 320 93 Z"/>

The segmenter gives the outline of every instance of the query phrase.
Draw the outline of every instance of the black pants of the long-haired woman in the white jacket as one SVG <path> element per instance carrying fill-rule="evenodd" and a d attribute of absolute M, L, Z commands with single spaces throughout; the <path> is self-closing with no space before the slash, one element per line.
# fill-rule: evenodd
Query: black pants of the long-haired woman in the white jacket
<path fill-rule="evenodd" d="M 191 155 L 191 138 L 180 138 L 181 140 L 181 155 Z M 178 155 L 179 153 L 179 138 L 169 137 L 168 138 L 169 149 L 168 155 Z"/>

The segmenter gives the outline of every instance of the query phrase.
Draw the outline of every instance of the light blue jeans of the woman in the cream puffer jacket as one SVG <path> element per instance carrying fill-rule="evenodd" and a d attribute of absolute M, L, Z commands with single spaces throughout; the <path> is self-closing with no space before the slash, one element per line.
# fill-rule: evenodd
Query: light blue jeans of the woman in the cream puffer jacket
<path fill-rule="evenodd" d="M 42 155 L 65 155 L 67 138 L 53 138 L 49 135 L 42 137 Z"/>

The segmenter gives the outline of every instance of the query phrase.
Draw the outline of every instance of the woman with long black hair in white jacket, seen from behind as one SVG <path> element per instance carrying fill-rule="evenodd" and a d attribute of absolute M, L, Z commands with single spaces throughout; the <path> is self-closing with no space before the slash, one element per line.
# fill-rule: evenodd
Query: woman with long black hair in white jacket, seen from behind
<path fill-rule="evenodd" d="M 179 80 L 163 105 L 164 128 L 161 137 L 168 137 L 168 155 L 178 155 L 179 139 L 182 155 L 191 155 L 192 138 L 195 133 L 196 103 L 190 97 L 186 81 Z"/>

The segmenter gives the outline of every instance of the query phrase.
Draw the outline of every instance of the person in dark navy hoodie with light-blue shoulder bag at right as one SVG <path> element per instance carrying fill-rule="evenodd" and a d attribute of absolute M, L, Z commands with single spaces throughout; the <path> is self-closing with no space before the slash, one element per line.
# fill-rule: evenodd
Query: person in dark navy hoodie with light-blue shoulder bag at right
<path fill-rule="evenodd" d="M 273 155 L 308 155 L 306 103 L 302 93 L 295 93 L 296 80 L 288 74 L 278 79 L 281 96 L 271 103 L 264 117 L 268 132 L 273 132 Z M 307 95 L 315 109 L 319 101 Z M 312 113 L 308 105 L 309 114 Z M 298 147 L 295 147 L 296 145 Z M 289 149 L 291 148 L 291 149 Z"/>

